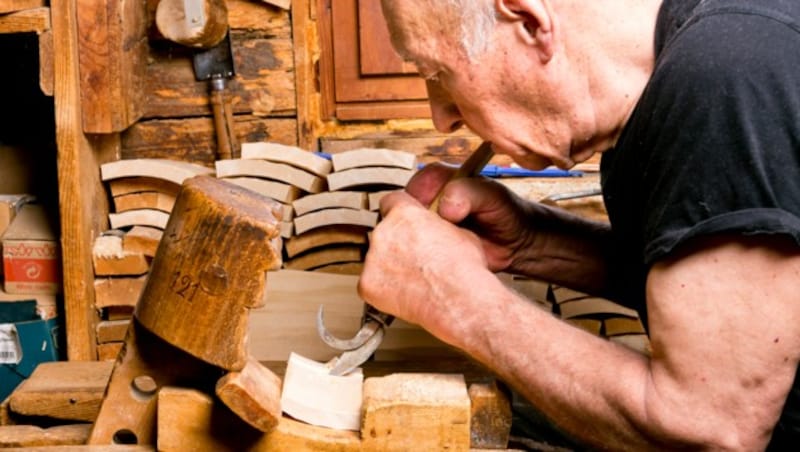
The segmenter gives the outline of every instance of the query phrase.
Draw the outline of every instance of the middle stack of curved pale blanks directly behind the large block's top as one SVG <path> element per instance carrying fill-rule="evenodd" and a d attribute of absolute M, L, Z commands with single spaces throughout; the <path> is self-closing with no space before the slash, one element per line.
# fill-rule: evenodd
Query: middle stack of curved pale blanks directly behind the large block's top
<path fill-rule="evenodd" d="M 242 144 L 242 158 L 218 160 L 217 177 L 248 188 L 280 203 L 281 236 L 293 235 L 292 202 L 327 189 L 331 162 L 313 152 L 279 143 Z"/>

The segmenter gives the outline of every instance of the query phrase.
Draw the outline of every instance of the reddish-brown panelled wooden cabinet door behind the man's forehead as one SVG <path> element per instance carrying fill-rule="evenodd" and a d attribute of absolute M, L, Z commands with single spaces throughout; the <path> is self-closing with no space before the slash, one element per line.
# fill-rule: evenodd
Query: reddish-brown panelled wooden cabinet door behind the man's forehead
<path fill-rule="evenodd" d="M 321 90 L 340 120 L 430 117 L 425 82 L 389 40 L 380 0 L 319 0 Z"/>

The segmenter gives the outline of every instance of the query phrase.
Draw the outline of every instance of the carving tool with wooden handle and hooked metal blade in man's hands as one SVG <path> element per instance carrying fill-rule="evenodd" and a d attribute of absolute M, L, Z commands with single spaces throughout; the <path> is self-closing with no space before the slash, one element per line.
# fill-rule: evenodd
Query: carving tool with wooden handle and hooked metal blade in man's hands
<path fill-rule="evenodd" d="M 492 151 L 491 143 L 488 141 L 483 142 L 453 173 L 450 180 L 477 176 L 493 155 L 494 151 Z M 441 198 L 443 191 L 444 186 L 433 199 L 429 207 L 432 212 L 439 210 L 439 198 Z M 344 375 L 366 362 L 381 344 L 383 336 L 386 334 L 386 328 L 394 320 L 394 316 L 381 312 L 367 304 L 365 305 L 361 329 L 350 339 L 339 339 L 325 328 L 323 316 L 323 307 L 320 306 L 319 311 L 317 311 L 317 332 L 320 338 L 329 346 L 337 350 L 344 350 L 341 356 L 334 358 L 331 362 L 333 365 L 330 370 L 331 375 Z"/>

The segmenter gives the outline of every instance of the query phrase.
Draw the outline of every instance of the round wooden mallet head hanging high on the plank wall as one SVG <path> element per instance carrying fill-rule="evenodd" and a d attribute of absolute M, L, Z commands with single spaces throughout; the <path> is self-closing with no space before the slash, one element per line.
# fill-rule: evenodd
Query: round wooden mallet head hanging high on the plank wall
<path fill-rule="evenodd" d="M 224 0 L 188 2 L 160 0 L 156 8 L 156 26 L 170 41 L 197 49 L 208 49 L 225 38 L 228 32 L 228 7 Z"/>

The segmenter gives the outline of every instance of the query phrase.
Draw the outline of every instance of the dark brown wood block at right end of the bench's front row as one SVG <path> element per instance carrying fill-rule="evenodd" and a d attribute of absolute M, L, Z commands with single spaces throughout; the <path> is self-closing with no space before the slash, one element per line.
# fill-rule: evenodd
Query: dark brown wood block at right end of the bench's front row
<path fill-rule="evenodd" d="M 505 449 L 511 434 L 511 402 L 497 382 L 472 383 L 470 399 L 470 447 Z"/>

